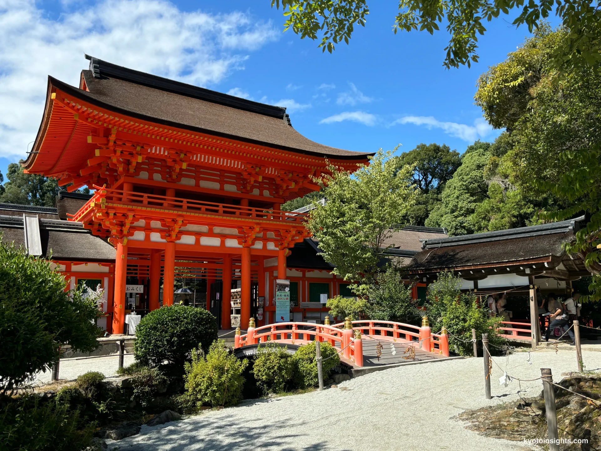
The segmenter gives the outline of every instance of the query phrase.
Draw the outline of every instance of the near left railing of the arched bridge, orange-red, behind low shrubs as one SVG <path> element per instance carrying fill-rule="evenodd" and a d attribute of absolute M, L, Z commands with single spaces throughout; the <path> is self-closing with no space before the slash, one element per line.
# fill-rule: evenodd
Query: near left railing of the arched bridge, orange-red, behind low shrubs
<path fill-rule="evenodd" d="M 280 342 L 290 340 L 293 345 L 297 344 L 295 342 L 305 344 L 313 340 L 327 342 L 334 346 L 338 354 L 352 361 L 356 366 L 363 366 L 361 335 L 354 336 L 352 329 L 340 329 L 325 324 L 280 322 L 257 328 L 249 327 L 246 334 L 234 337 L 234 348 L 276 340 Z"/>

